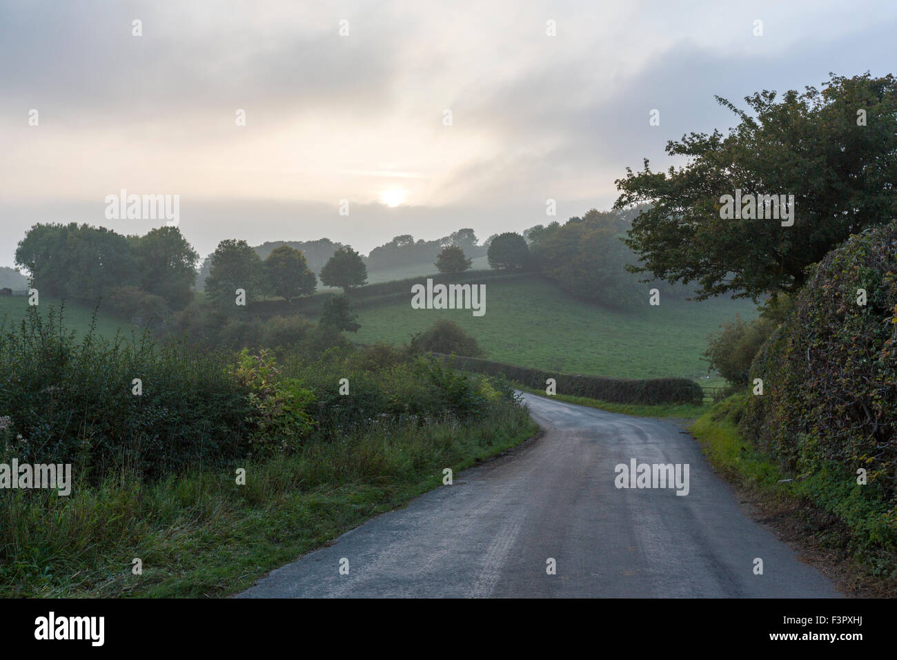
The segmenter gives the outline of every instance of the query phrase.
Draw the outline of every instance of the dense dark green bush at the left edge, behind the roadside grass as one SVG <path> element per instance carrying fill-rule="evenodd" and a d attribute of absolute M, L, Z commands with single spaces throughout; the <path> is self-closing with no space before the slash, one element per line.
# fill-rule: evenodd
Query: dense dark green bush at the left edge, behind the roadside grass
<path fill-rule="evenodd" d="M 76 480 L 99 482 L 218 465 L 242 451 L 251 410 L 225 358 L 156 345 L 145 332 L 130 342 L 88 332 L 79 342 L 62 313 L 51 308 L 44 318 L 30 308 L 18 330 L 0 329 L 7 454 L 73 463 Z"/>

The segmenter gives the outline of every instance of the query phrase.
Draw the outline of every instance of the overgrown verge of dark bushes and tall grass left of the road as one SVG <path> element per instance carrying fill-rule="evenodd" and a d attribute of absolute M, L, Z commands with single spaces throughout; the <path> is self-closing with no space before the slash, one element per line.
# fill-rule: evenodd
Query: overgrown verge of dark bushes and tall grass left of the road
<path fill-rule="evenodd" d="M 0 595 L 231 593 L 535 431 L 507 383 L 392 348 L 277 364 L 61 314 L 0 329 L 3 462 L 74 463 L 70 496 L 0 489 Z"/>

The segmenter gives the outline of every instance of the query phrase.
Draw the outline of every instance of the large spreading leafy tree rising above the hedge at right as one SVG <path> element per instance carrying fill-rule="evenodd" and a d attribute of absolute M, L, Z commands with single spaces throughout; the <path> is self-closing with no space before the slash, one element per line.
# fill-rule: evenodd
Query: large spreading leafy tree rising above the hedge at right
<path fill-rule="evenodd" d="M 684 167 L 637 174 L 616 185 L 617 208 L 650 202 L 627 239 L 643 264 L 633 272 L 701 284 L 698 299 L 795 291 L 806 267 L 852 233 L 897 214 L 897 80 L 831 74 L 822 92 L 757 92 L 753 115 L 717 97 L 739 124 L 723 136 L 692 133 L 666 153 Z M 863 119 L 865 118 L 865 121 Z M 723 195 L 794 195 L 792 226 L 722 219 Z"/>

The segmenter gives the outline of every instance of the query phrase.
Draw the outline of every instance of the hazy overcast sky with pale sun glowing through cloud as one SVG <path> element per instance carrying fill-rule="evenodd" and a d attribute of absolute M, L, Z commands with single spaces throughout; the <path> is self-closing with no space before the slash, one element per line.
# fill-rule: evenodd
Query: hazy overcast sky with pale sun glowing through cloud
<path fill-rule="evenodd" d="M 36 222 L 163 224 L 107 220 L 120 189 L 179 195 L 203 255 L 563 221 L 672 164 L 668 139 L 732 126 L 714 94 L 897 73 L 895 33 L 893 0 L 2 0 L 0 265 Z"/>

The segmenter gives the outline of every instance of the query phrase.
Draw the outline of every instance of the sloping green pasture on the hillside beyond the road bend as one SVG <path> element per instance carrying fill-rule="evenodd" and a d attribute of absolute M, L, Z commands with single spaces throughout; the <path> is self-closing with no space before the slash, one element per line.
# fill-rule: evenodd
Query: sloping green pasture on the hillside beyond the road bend
<path fill-rule="evenodd" d="M 409 291 L 408 302 L 361 308 L 361 330 L 353 339 L 402 343 L 448 318 L 498 362 L 618 378 L 682 376 L 712 386 L 725 383 L 715 376 L 706 380 L 707 363 L 700 356 L 707 336 L 736 312 L 745 319 L 757 314 L 750 301 L 728 298 L 661 299 L 652 307 L 647 293 L 642 308 L 612 311 L 583 303 L 536 276 L 487 284 L 481 317 L 469 310 L 413 310 L 410 303 Z"/>

